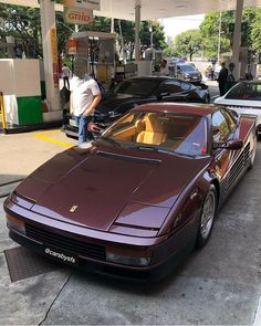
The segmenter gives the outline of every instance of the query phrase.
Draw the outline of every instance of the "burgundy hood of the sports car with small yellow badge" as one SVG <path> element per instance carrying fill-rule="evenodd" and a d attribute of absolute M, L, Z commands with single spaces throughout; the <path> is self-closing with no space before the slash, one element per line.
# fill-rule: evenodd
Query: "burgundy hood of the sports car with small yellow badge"
<path fill-rule="evenodd" d="M 137 150 L 115 153 L 111 148 L 88 155 L 75 149 L 72 160 L 72 151 L 34 171 L 18 187 L 17 194 L 34 200 L 34 212 L 103 231 L 109 230 L 128 203 L 169 211 L 210 161 Z"/>

